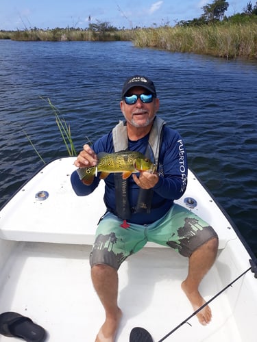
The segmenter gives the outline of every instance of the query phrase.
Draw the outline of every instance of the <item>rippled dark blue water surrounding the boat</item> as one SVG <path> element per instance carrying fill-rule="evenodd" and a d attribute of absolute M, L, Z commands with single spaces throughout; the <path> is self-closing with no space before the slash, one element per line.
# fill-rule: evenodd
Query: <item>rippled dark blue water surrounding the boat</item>
<path fill-rule="evenodd" d="M 77 151 L 122 118 L 123 81 L 154 79 L 159 115 L 184 137 L 189 166 L 257 254 L 257 62 L 138 49 L 130 42 L 0 40 L 0 206 L 42 166 L 66 155 L 50 98 Z"/>

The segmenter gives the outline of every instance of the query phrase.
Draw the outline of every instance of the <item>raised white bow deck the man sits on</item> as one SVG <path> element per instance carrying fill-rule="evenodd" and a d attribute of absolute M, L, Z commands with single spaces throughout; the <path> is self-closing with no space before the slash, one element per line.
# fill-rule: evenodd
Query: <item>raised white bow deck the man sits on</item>
<path fill-rule="evenodd" d="M 15 241 L 38 241 L 58 244 L 93 244 L 99 218 L 106 212 L 103 203 L 104 182 L 90 196 L 77 196 L 71 187 L 74 157 L 56 159 L 47 164 L 1 209 L 0 238 Z M 49 196 L 37 200 L 36 194 Z M 186 198 L 195 200 L 188 207 Z M 236 239 L 236 233 L 210 194 L 188 170 L 188 186 L 178 204 L 206 220 L 219 235 L 219 249 Z M 82 217 L 83 215 L 83 217 Z M 76 218 L 83 218 L 77 222 Z M 155 244 L 148 243 L 154 247 Z"/>

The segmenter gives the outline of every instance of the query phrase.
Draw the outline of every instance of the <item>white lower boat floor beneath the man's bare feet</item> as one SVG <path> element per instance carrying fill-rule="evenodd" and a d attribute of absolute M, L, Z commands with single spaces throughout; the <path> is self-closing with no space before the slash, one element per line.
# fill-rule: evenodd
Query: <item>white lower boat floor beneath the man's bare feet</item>
<path fill-rule="evenodd" d="M 32 318 L 49 332 L 47 341 L 95 341 L 104 316 L 90 280 L 90 246 L 16 244 L 18 248 L 1 273 L 1 312 L 17 311 Z M 219 265 L 218 258 L 201 283 L 206 300 L 223 287 L 217 282 L 222 276 L 220 269 L 217 272 Z M 187 259 L 169 248 L 144 248 L 123 263 L 119 271 L 123 319 L 117 341 L 128 341 L 135 326 L 146 328 L 158 341 L 191 315 L 191 305 L 180 289 L 186 269 Z M 239 281 L 236 286 L 240 287 Z M 211 324 L 201 326 L 193 317 L 167 341 L 245 342 L 238 334 L 226 292 L 210 306 Z M 0 335 L 0 341 L 8 342 L 10 338 Z"/>

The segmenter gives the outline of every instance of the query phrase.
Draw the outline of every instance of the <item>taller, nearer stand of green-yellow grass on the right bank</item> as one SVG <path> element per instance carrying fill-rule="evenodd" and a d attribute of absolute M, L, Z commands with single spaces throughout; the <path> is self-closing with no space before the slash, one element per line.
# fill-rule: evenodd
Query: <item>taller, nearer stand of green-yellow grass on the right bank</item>
<path fill-rule="evenodd" d="M 225 58 L 257 58 L 257 23 L 138 29 L 133 42 L 137 47 Z"/>

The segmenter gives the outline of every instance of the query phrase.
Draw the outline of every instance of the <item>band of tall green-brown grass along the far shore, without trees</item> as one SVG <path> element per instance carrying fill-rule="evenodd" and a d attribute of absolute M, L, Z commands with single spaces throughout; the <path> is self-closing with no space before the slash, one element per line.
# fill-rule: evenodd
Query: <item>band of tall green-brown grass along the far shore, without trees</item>
<path fill-rule="evenodd" d="M 156 47 L 168 51 L 193 52 L 225 58 L 257 59 L 257 16 L 256 20 L 252 19 L 245 23 L 223 21 L 202 26 L 162 26 L 117 31 L 35 28 L 0 31 L 0 38 L 42 41 L 131 40 L 136 47 Z"/>

